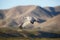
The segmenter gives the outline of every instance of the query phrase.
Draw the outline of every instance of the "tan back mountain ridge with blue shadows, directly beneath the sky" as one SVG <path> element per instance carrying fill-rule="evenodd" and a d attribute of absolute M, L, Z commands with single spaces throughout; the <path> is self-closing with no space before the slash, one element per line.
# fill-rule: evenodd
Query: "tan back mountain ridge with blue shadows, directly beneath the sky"
<path fill-rule="evenodd" d="M 0 25 L 2 27 L 17 26 L 16 28 L 18 28 L 18 26 L 22 24 L 23 21 L 25 20 L 24 17 L 27 16 L 34 17 L 39 21 L 45 20 L 44 22 L 40 23 L 40 24 L 42 23 L 44 24 L 47 20 L 52 19 L 58 15 L 60 15 L 60 6 L 45 7 L 45 8 L 34 5 L 17 6 L 6 10 L 5 9 L 0 10 L 0 21 L 1 21 Z"/>

